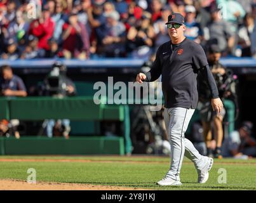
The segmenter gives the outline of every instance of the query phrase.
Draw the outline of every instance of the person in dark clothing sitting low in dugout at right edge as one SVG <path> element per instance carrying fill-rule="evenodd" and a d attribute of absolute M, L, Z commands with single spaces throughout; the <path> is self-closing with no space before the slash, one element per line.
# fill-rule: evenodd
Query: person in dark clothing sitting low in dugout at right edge
<path fill-rule="evenodd" d="M 229 134 L 229 138 L 223 143 L 223 156 L 236 159 L 248 159 L 256 157 L 256 141 L 252 137 L 253 123 L 245 121 L 238 131 Z"/>

